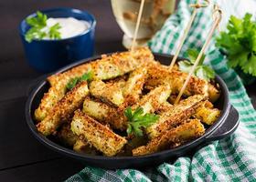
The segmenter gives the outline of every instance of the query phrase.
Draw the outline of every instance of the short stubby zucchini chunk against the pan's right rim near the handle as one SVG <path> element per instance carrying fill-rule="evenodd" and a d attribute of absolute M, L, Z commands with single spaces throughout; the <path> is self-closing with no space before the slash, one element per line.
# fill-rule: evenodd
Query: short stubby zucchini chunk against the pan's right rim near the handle
<path fill-rule="evenodd" d="M 209 101 L 203 102 L 196 111 L 195 116 L 207 125 L 212 125 L 220 116 L 220 110 L 213 108 Z"/>

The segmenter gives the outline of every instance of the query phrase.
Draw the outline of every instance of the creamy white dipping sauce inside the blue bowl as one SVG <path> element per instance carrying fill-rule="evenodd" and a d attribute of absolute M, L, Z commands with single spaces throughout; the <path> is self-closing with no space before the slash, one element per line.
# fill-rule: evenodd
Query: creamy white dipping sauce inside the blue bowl
<path fill-rule="evenodd" d="M 44 27 L 44 31 L 48 32 L 49 27 L 58 24 L 61 26 L 59 28 L 59 33 L 61 39 L 69 38 L 76 35 L 81 35 L 83 32 L 90 28 L 90 24 L 87 21 L 78 20 L 73 17 L 68 18 L 48 18 L 47 26 Z M 44 40 L 49 40 L 49 37 L 44 37 Z"/>

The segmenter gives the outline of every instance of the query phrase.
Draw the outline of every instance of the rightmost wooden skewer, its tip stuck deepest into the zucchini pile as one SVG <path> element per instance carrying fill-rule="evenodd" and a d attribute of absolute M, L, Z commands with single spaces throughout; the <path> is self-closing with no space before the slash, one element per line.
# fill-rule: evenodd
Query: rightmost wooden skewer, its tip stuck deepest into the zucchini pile
<path fill-rule="evenodd" d="M 221 10 L 219 9 L 219 7 L 218 7 L 217 5 L 214 5 L 214 15 L 216 15 L 217 13 L 218 13 L 219 16 L 218 16 L 218 17 L 216 17 L 216 16 L 214 17 L 214 18 L 215 18 L 215 21 L 214 21 L 214 24 L 212 25 L 212 27 L 211 27 L 211 29 L 210 29 L 210 31 L 209 31 L 209 33 L 208 33 L 207 40 L 206 40 L 205 44 L 203 45 L 203 47 L 202 47 L 202 49 L 201 49 L 199 55 L 197 56 L 197 59 L 196 59 L 196 61 L 195 61 L 195 64 L 194 64 L 194 66 L 192 66 L 192 68 L 191 68 L 191 70 L 190 70 L 190 72 L 189 72 L 189 74 L 188 74 L 188 76 L 187 76 L 187 78 L 186 78 L 186 81 L 185 81 L 184 85 L 182 86 L 182 88 L 181 88 L 181 90 L 180 90 L 178 96 L 176 97 L 175 104 L 178 103 L 180 97 L 183 95 L 183 93 L 184 93 L 184 91 L 185 91 L 185 89 L 186 89 L 186 87 L 187 87 L 187 84 L 188 84 L 188 82 L 189 82 L 191 76 L 193 75 L 193 73 L 194 73 L 194 71 L 195 71 L 195 69 L 196 69 L 196 67 L 197 67 L 197 65 L 198 65 L 198 63 L 199 63 L 199 60 L 201 59 L 201 57 L 202 57 L 203 54 L 205 53 L 205 51 L 206 51 L 206 49 L 207 49 L 207 47 L 208 47 L 208 44 L 209 44 L 209 42 L 210 42 L 210 40 L 211 40 L 211 37 L 212 37 L 212 35 L 213 35 L 215 29 L 218 27 L 219 22 L 220 22 L 220 20 L 221 20 Z"/>

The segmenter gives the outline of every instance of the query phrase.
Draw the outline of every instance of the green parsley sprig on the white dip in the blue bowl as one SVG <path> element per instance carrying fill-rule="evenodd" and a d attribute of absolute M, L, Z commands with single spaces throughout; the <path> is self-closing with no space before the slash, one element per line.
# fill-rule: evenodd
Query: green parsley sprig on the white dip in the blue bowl
<path fill-rule="evenodd" d="M 44 37 L 49 37 L 50 39 L 60 39 L 59 28 L 60 25 L 57 23 L 52 25 L 47 30 L 45 27 L 47 26 L 48 16 L 42 14 L 37 11 L 37 16 L 35 17 L 27 17 L 26 22 L 30 25 L 30 29 L 27 31 L 25 35 L 25 39 L 27 42 L 31 42 L 32 40 L 38 39 L 41 40 Z"/>

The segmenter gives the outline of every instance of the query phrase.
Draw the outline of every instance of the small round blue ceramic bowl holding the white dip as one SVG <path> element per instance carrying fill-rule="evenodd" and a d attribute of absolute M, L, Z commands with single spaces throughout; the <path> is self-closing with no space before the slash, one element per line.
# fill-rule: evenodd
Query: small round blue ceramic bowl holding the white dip
<path fill-rule="evenodd" d="M 96 21 L 86 11 L 71 8 L 53 8 L 42 10 L 48 17 L 74 17 L 90 23 L 90 28 L 80 35 L 60 40 L 33 40 L 28 43 L 25 34 L 30 28 L 24 19 L 19 25 L 19 34 L 24 45 L 27 61 L 40 72 L 55 71 L 80 59 L 93 55 Z M 36 14 L 28 15 L 36 16 Z"/>

